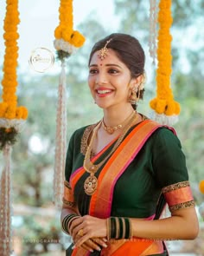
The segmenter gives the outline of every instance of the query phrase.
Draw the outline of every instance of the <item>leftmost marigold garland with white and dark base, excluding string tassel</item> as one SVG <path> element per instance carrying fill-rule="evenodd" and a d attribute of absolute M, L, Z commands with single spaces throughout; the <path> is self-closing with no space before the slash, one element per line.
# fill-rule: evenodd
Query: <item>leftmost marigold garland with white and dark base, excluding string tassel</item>
<path fill-rule="evenodd" d="M 25 107 L 17 107 L 17 57 L 18 46 L 17 25 L 20 23 L 18 12 L 18 1 L 7 0 L 6 16 L 4 19 L 4 44 L 5 54 L 3 61 L 3 102 L 0 102 L 0 149 L 8 143 L 16 142 L 16 135 L 22 124 L 28 117 L 28 110 Z"/>

